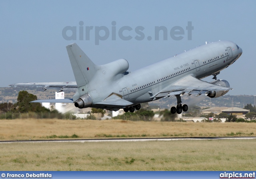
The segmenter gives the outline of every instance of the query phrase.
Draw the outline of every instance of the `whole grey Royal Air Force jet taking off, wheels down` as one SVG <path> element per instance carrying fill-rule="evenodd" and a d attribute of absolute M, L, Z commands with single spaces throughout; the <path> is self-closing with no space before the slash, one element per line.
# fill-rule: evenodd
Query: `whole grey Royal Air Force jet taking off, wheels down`
<path fill-rule="evenodd" d="M 95 107 L 125 112 L 140 109 L 140 103 L 175 95 L 177 106 L 171 113 L 182 113 L 184 94 L 220 97 L 230 88 L 226 80 L 217 80 L 220 71 L 233 64 L 242 49 L 234 42 L 217 41 L 185 51 L 174 57 L 128 72 L 125 59 L 105 65 L 94 64 L 76 43 L 66 46 L 76 82 L 18 83 L 10 86 L 42 86 L 43 90 L 76 90 L 73 99 L 46 99 L 31 102 L 74 103 L 80 109 Z M 200 79 L 213 75 L 213 82 Z"/>

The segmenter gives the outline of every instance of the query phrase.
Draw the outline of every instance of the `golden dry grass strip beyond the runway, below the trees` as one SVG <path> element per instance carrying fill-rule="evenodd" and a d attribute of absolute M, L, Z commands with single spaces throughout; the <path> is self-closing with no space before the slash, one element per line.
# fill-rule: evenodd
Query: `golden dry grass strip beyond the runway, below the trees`
<path fill-rule="evenodd" d="M 122 120 L 0 120 L 0 140 L 106 137 L 255 136 L 256 123 L 188 123 Z"/>

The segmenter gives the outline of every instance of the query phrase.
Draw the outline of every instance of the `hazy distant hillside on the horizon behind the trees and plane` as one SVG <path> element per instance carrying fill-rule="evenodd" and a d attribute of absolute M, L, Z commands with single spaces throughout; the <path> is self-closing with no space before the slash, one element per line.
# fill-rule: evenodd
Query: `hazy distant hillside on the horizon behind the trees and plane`
<path fill-rule="evenodd" d="M 55 90 L 43 91 L 42 88 L 36 87 L 16 87 L 16 88 L 0 88 L 0 103 L 11 102 L 16 103 L 18 92 L 26 90 L 38 97 L 38 99 L 55 99 Z M 65 91 L 65 98 L 72 98 L 74 91 Z M 247 104 L 255 104 L 254 95 L 224 95 L 221 97 L 210 98 L 205 95 L 196 96 L 182 96 L 182 104 L 198 105 L 200 107 L 240 107 L 243 108 Z M 162 109 L 169 109 L 177 104 L 176 97 L 162 98 L 148 103 L 153 108 L 160 107 Z"/>

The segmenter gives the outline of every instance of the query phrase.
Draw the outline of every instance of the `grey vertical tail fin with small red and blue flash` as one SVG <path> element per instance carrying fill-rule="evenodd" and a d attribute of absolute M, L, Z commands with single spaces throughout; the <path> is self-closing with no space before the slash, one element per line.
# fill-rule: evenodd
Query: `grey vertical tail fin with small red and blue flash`
<path fill-rule="evenodd" d="M 86 85 L 96 73 L 97 65 L 88 58 L 76 43 L 70 44 L 66 48 L 77 87 Z"/>

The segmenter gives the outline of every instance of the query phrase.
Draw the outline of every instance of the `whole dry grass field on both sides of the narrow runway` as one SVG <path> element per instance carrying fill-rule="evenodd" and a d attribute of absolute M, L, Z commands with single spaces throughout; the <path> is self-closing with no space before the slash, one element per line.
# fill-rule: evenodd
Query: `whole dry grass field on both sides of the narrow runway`
<path fill-rule="evenodd" d="M 0 120 L 0 140 L 255 136 L 255 123 Z M 256 140 L 0 143 L 13 171 L 255 170 Z"/>

